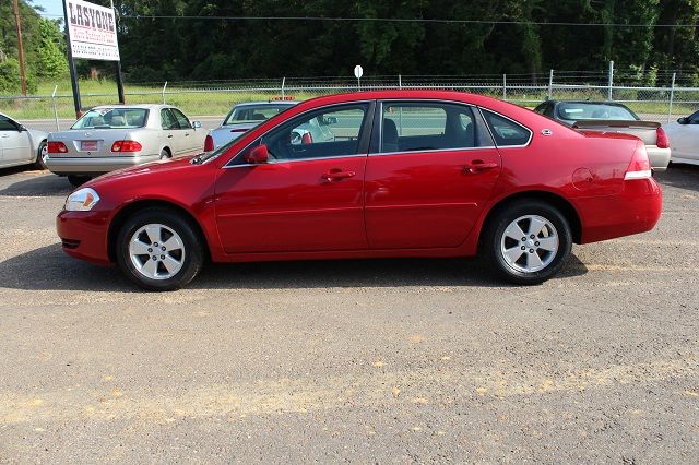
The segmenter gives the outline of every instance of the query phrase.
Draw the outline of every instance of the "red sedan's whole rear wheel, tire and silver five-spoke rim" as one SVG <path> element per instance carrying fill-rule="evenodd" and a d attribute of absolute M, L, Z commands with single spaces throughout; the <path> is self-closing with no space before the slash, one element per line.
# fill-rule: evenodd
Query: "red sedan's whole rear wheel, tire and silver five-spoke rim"
<path fill-rule="evenodd" d="M 566 263 L 572 234 L 566 217 L 540 201 L 522 201 L 489 222 L 484 253 L 491 269 L 510 283 L 541 284 Z"/>

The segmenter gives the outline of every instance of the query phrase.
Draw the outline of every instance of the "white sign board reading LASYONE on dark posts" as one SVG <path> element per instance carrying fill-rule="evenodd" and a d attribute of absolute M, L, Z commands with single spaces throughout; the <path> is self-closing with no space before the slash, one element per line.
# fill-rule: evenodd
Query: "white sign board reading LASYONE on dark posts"
<path fill-rule="evenodd" d="M 114 10 L 82 0 L 64 0 L 73 58 L 119 61 Z"/>

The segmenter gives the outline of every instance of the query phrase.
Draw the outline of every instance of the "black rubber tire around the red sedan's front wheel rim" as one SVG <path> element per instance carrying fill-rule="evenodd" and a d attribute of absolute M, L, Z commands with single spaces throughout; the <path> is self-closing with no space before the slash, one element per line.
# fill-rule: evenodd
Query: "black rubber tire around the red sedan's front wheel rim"
<path fill-rule="evenodd" d="M 182 241 L 183 259 L 181 261 L 181 267 L 170 277 L 161 279 L 147 277 L 137 270 L 131 259 L 129 242 L 132 236 L 143 226 L 150 224 L 163 225 L 171 229 Z M 180 214 L 165 208 L 144 208 L 131 215 L 119 230 L 116 243 L 117 263 L 131 281 L 144 289 L 176 290 L 189 284 L 194 276 L 199 274 L 204 263 L 204 247 L 202 240 L 203 239 L 197 234 L 196 226 L 191 224 L 189 218 L 185 218 Z M 138 261 L 138 259 L 135 260 Z"/>

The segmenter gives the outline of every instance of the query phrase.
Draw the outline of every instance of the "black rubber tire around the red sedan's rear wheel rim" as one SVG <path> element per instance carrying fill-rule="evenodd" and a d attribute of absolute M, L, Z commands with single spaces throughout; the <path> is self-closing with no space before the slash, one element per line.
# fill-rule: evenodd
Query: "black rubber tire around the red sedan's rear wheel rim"
<path fill-rule="evenodd" d="M 541 217 L 553 225 L 555 228 L 554 233 L 558 240 L 558 247 L 555 252 L 549 252 L 543 249 L 540 252 L 540 249 L 536 247 L 529 249 L 530 245 L 526 242 L 531 238 L 526 236 L 529 231 L 525 231 L 524 237 L 522 237 L 521 245 L 512 245 L 512 248 L 507 247 L 507 243 L 512 239 L 509 238 L 509 235 L 506 235 L 506 229 L 513 222 L 526 216 Z M 526 222 L 528 219 L 522 219 L 521 225 L 525 226 L 528 224 Z M 544 235 L 545 233 L 549 234 L 549 230 L 543 229 L 541 234 Z M 503 238 L 503 236 L 507 236 L 507 238 Z M 535 237 L 532 240 L 534 241 L 538 237 Z M 538 246 L 540 242 L 536 241 L 534 243 Z M 502 251 L 503 245 L 506 245 L 505 249 L 507 250 L 517 250 L 514 249 L 514 246 L 520 248 L 524 247 L 525 249 L 523 249 L 523 252 L 521 252 L 522 255 L 520 257 L 520 259 L 523 258 L 523 262 L 514 262 L 513 264 L 508 263 Z M 481 246 L 485 261 L 496 275 L 513 284 L 535 285 L 549 279 L 564 266 L 570 255 L 572 234 L 568 220 L 556 207 L 537 200 L 523 200 L 505 206 L 497 212 L 493 218 L 490 218 L 486 225 L 484 240 Z M 531 252 L 531 250 L 534 250 L 534 252 Z M 541 270 L 523 271 L 520 267 L 526 267 L 529 264 L 526 253 L 536 253 L 542 262 L 548 263 L 546 263 L 545 267 Z M 535 269 L 535 266 L 533 266 L 533 269 Z"/>

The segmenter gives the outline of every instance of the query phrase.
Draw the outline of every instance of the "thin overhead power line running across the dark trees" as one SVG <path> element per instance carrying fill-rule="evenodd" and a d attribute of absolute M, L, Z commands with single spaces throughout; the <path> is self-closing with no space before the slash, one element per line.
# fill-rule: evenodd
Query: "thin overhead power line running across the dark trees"
<path fill-rule="evenodd" d="M 45 16 L 62 15 L 47 14 Z M 431 23 L 431 24 L 491 24 L 491 25 L 535 25 L 535 26 L 572 26 L 572 27 L 697 27 L 697 24 L 621 24 L 621 23 L 567 23 L 543 21 L 498 21 L 498 20 L 436 20 L 423 17 L 325 17 L 325 16 L 177 16 L 177 15 L 140 15 L 125 14 L 119 16 L 129 20 L 202 20 L 202 21 L 346 21 L 371 23 Z"/>

